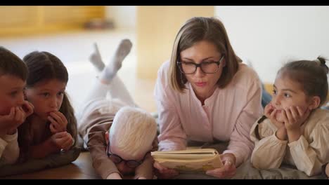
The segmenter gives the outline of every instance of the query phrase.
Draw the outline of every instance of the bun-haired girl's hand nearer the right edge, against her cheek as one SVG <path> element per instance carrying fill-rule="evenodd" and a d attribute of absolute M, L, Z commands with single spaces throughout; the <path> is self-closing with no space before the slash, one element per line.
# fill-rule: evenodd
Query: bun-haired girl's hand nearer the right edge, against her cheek
<path fill-rule="evenodd" d="M 288 131 L 299 130 L 301 125 L 309 117 L 311 111 L 303 111 L 300 107 L 288 107 L 283 113 L 285 128 Z"/>

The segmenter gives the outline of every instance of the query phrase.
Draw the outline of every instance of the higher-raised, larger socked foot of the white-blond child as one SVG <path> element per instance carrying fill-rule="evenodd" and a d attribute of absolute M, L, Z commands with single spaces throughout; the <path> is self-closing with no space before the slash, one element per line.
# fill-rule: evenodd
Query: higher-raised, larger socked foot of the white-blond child
<path fill-rule="evenodd" d="M 112 80 L 115 74 L 117 74 L 117 71 L 122 67 L 122 61 L 129 54 L 131 46 L 132 43 L 129 39 L 124 39 L 120 42 L 112 60 L 110 60 L 105 69 L 103 69 L 101 81 L 109 83 Z"/>

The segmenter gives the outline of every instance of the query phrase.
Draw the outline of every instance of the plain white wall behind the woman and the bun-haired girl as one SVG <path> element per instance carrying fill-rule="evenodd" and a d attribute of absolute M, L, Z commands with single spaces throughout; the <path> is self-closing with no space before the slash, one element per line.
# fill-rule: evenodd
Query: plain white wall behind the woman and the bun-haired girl
<path fill-rule="evenodd" d="M 216 6 L 215 16 L 266 83 L 288 60 L 329 58 L 329 6 Z"/>

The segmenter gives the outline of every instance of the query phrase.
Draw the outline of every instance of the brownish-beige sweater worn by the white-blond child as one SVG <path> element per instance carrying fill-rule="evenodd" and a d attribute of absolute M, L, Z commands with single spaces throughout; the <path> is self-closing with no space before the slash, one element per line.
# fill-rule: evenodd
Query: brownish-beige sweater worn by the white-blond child
<path fill-rule="evenodd" d="M 106 154 L 105 132 L 112 125 L 113 118 L 122 104 L 111 100 L 96 100 L 89 102 L 82 112 L 82 118 L 79 121 L 78 132 L 84 138 L 85 147 L 91 153 L 93 168 L 106 179 L 109 174 L 119 172 L 115 163 L 110 160 Z M 157 150 L 157 139 L 155 138 L 153 150 Z M 122 174 L 121 174 L 122 176 Z M 134 179 L 138 177 L 153 178 L 153 158 L 146 157 L 139 165 L 134 174 Z"/>

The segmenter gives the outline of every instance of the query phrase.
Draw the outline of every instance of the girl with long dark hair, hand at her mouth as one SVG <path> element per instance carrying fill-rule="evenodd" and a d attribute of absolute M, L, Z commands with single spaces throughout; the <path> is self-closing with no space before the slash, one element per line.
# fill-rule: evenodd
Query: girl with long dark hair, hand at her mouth
<path fill-rule="evenodd" d="M 29 70 L 25 98 L 34 105 L 34 114 L 18 128 L 21 162 L 67 151 L 77 138 L 77 121 L 65 93 L 68 74 L 63 62 L 39 51 L 23 61 Z"/>

